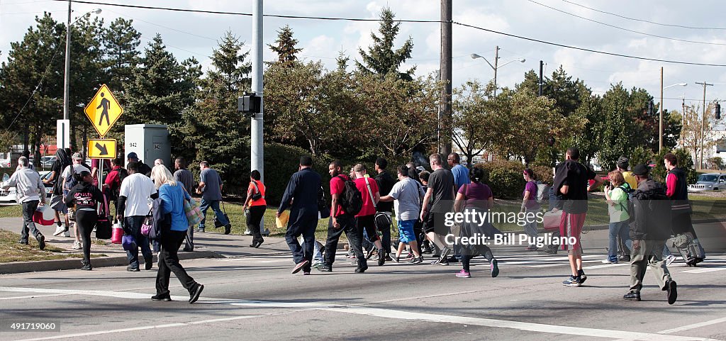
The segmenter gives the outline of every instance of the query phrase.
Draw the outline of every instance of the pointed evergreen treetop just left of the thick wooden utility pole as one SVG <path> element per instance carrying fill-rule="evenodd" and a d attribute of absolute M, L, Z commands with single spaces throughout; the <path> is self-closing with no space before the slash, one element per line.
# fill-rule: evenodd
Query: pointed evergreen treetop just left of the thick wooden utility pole
<path fill-rule="evenodd" d="M 373 73 L 376 75 L 393 73 L 401 79 L 412 81 L 416 67 L 411 67 L 404 72 L 400 72 L 399 67 L 406 59 L 411 58 L 413 39 L 409 37 L 403 46 L 396 50 L 393 49 L 393 43 L 399 34 L 399 25 L 401 25 L 400 22 L 393 23 L 394 17 L 396 15 L 388 7 L 380 12 L 380 26 L 378 28 L 380 36 L 372 32 L 370 33 L 373 39 L 373 46 L 368 47 L 368 52 L 360 48 L 358 49 L 363 62 L 356 61 L 356 66 L 363 73 Z"/>

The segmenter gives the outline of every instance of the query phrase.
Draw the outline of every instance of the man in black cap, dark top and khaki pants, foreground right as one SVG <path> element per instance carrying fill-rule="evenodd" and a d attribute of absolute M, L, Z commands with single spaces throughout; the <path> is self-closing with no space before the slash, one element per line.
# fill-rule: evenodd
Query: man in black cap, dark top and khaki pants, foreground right
<path fill-rule="evenodd" d="M 676 282 L 663 260 L 663 247 L 670 237 L 671 203 L 666 189 L 648 176 L 648 167 L 637 165 L 633 169 L 637 190 L 632 202 L 635 223 L 630 227 L 632 252 L 630 263 L 630 291 L 623 296 L 626 300 L 640 301 L 640 289 L 646 268 L 656 275 L 658 287 L 668 293 L 668 304 L 677 297 Z"/>

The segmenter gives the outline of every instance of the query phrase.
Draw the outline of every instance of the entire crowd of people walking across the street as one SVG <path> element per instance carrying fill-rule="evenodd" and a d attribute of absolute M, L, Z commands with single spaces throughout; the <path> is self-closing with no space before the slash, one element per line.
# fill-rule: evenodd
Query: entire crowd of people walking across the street
<path fill-rule="evenodd" d="M 144 259 L 144 269 L 151 270 L 152 247 L 158 252 L 157 294 L 154 300 L 171 300 L 168 290 L 169 276 L 174 272 L 181 284 L 189 291 L 189 302 L 198 299 L 204 286 L 192 279 L 179 264 L 177 252 L 182 244 L 184 251 L 194 250 L 194 234 L 205 231 L 208 209 L 213 211 L 216 227 L 224 227 L 224 234 L 231 231 L 231 223 L 224 209 L 220 209 L 223 184 L 219 173 L 206 161 L 200 162 L 200 181 L 187 170 L 181 157 L 174 162 L 174 173 L 155 160 L 154 167 L 144 164 L 131 152 L 124 168 L 121 159 L 102 165 L 93 160 L 89 170 L 83 157 L 59 149 L 52 165 L 52 174 L 46 184 L 53 184 L 54 194 L 48 205 L 55 210 L 57 229 L 55 236 L 70 237 L 75 233 L 73 248 L 83 250 L 81 268 L 91 270 L 91 231 L 99 220 L 99 212 L 105 212 L 107 202 L 115 202 L 115 218 L 121 222 L 129 240 L 126 247 L 128 271 L 140 271 L 139 248 Z M 690 266 L 703 261 L 705 252 L 698 242 L 693 223 L 690 221 L 690 205 L 685 182 L 685 172 L 678 168 L 673 154 L 664 157 L 668 170 L 666 184 L 658 184 L 649 176 L 646 165 L 635 165 L 629 171 L 627 157 L 618 160 L 617 168 L 608 173 L 605 186 L 608 205 L 609 243 L 608 258 L 604 263 L 630 262 L 630 289 L 624 298 L 640 300 L 643 276 L 646 268 L 655 272 L 658 284 L 667 292 L 669 303 L 677 298 L 677 284 L 671 278 L 667 266 L 675 260 L 668 245 L 676 247 Z M 46 204 L 44 183 L 31 169 L 27 157 L 20 157 L 18 170 L 3 184 L 16 186 L 18 201 L 23 205 L 23 229 L 20 243 L 28 244 L 30 233 L 37 239 L 41 250 L 45 238 L 33 223 L 33 213 L 38 205 Z M 302 271 L 309 275 L 312 268 L 333 271 L 338 243 L 343 233 L 348 239 L 348 251 L 354 258 L 354 272 L 362 274 L 368 269 L 367 260 L 375 257 L 378 266 L 387 261 L 399 263 L 423 263 L 423 254 L 433 254 L 432 264 L 448 265 L 460 262 L 462 268 L 456 276 L 471 276 L 470 261 L 481 255 L 489 262 L 489 274 L 499 274 L 499 264 L 494 252 L 485 243 L 459 245 L 447 243 L 447 235 L 470 237 L 502 234 L 491 221 L 461 224 L 446 223 L 447 213 L 486 213 L 494 209 L 494 193 L 484 184 L 481 168 L 466 168 L 460 164 L 457 153 L 448 155 L 446 164 L 439 154 L 429 157 L 432 172 L 415 164 L 396 167 L 396 176 L 388 173 L 388 162 L 383 158 L 375 161 L 373 176 L 366 165 L 354 165 L 348 173 L 339 160 L 328 167 L 330 192 L 322 186 L 322 176 L 312 169 L 311 157 L 301 157 L 298 172 L 294 173 L 282 195 L 279 217 L 290 210 L 285 233 L 287 245 L 293 254 L 293 274 Z M 99 189 L 99 169 L 110 169 Z M 552 186 L 542 186 L 537 174 L 529 168 L 523 171 L 526 185 L 523 188 L 520 210 L 537 213 L 544 210 L 541 202 L 547 191 L 549 208 L 559 213 L 561 237 L 574 242 L 547 247 L 544 252 L 566 251 L 571 274 L 563 282 L 568 287 L 579 287 L 587 275 L 582 268 L 580 237 L 587 216 L 588 194 L 603 184 L 603 179 L 592 169 L 579 163 L 579 151 L 570 148 L 566 160 L 554 170 Z M 396 181 L 397 179 L 397 181 Z M 250 172 L 250 184 L 243 204 L 247 225 L 253 236 L 250 247 L 264 243 L 261 235 L 261 219 L 267 208 L 266 187 L 258 171 Z M 202 218 L 198 226 L 189 223 L 185 206 L 195 202 L 190 193 L 201 194 Z M 330 194 L 328 205 L 327 194 Z M 107 207 L 106 207 L 107 208 Z M 329 218 L 328 218 L 329 217 Z M 65 218 L 65 225 L 62 218 Z M 315 230 L 321 218 L 328 218 L 325 243 L 315 240 Z M 391 243 L 393 218 L 398 231 L 398 244 Z M 148 224 L 158 229 L 150 240 Z M 158 226 L 158 227 L 156 227 Z M 528 221 L 524 233 L 538 236 L 537 221 Z M 160 237 L 159 237 L 160 236 Z M 302 239 L 302 245 L 299 239 Z M 537 250 L 529 239 L 526 250 Z M 404 257 L 404 252 L 407 257 Z M 322 254 L 322 255 L 321 255 Z"/>

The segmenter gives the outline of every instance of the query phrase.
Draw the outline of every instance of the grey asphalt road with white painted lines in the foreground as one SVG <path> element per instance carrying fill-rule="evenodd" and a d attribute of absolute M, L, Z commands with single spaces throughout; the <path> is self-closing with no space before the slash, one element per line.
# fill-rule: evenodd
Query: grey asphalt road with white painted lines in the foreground
<path fill-rule="evenodd" d="M 184 261 L 205 284 L 194 305 L 176 279 L 173 302 L 154 302 L 155 271 L 125 268 L 0 276 L 0 340 L 726 340 L 723 223 L 711 224 L 703 266 L 670 268 L 677 303 L 646 274 L 643 301 L 627 292 L 629 266 L 603 264 L 605 231 L 584 240 L 583 287 L 563 287 L 565 255 L 495 247 L 472 278 L 457 264 L 371 266 L 339 252 L 333 273 L 290 274 L 289 252 Z M 347 261 L 346 261 L 347 260 Z M 53 321 L 54 332 L 10 332 L 12 321 Z"/>

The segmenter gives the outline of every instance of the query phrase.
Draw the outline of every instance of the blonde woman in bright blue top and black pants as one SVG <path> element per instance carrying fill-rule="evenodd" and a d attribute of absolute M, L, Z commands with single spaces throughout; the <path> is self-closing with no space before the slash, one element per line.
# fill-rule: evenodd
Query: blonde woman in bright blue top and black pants
<path fill-rule="evenodd" d="M 174 275 L 185 289 L 189 290 L 189 303 L 195 303 L 204 289 L 204 285 L 197 283 L 187 274 L 184 267 L 179 264 L 179 247 L 187 236 L 187 215 L 184 213 L 184 200 L 192 197 L 184 190 L 184 186 L 174 181 L 164 165 L 156 165 L 151 171 L 151 179 L 159 192 L 161 213 L 171 218 L 171 224 L 166 223 L 161 233 L 161 252 L 159 252 L 159 271 L 156 274 L 156 295 L 152 300 L 171 301 L 169 295 L 169 276 Z"/>

